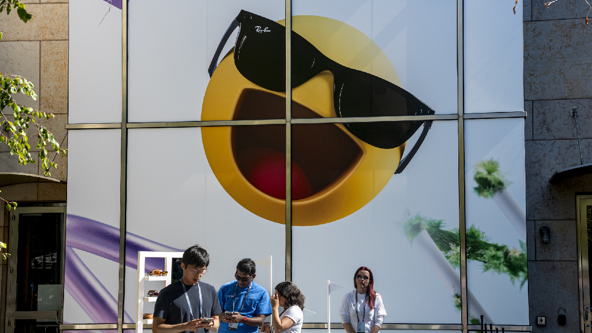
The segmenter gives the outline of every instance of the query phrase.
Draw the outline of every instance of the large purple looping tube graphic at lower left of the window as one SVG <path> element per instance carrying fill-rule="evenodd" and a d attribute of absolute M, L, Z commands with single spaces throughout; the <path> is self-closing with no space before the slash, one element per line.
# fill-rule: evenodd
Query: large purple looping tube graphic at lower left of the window
<path fill-rule="evenodd" d="M 117 322 L 117 300 L 72 248 L 119 262 L 120 229 L 86 217 L 66 214 L 66 281 L 68 293 L 95 323 Z M 138 251 L 183 252 L 150 239 L 126 234 L 126 266 L 137 269 Z M 146 258 L 146 272 L 164 268 L 164 258 Z M 124 322 L 134 322 L 124 312 Z"/>

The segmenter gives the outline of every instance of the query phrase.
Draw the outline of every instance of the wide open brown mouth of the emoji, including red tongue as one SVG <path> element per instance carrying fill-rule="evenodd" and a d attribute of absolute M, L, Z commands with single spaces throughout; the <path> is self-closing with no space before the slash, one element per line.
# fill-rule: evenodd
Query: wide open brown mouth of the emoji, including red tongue
<path fill-rule="evenodd" d="M 320 118 L 292 101 L 292 117 Z M 284 119 L 285 98 L 257 89 L 244 89 L 234 120 Z M 258 190 L 285 199 L 285 126 L 236 126 L 232 131 L 234 161 Z M 292 200 L 330 190 L 352 172 L 362 148 L 336 124 L 292 126 Z"/>

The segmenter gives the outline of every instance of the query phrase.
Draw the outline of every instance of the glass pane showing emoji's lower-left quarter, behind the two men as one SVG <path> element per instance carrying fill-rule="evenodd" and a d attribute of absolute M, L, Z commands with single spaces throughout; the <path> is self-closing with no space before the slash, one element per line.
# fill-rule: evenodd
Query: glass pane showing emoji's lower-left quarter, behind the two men
<path fill-rule="evenodd" d="M 200 244 L 210 254 L 202 281 L 216 290 L 234 280 L 241 259 L 272 255 L 272 285 L 284 281 L 285 128 L 129 130 L 126 313 L 136 313 L 137 251 L 183 252 Z M 155 150 L 174 158 L 150 158 L 147 168 Z M 146 270 L 153 268 L 163 261 L 147 260 Z M 258 264 L 255 281 L 269 289 L 269 268 Z M 146 291 L 162 287 L 144 282 Z M 144 303 L 140 315 L 153 313 L 154 304 Z"/>

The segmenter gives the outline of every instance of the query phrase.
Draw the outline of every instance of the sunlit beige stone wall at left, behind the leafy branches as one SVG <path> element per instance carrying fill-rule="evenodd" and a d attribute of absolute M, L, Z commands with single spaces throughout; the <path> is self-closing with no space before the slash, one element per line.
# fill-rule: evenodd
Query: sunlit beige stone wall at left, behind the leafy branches
<path fill-rule="evenodd" d="M 18 103 L 53 113 L 56 119 L 44 120 L 41 124 L 56 136 L 60 142 L 66 135 L 68 98 L 68 4 L 67 0 L 24 0 L 27 11 L 35 18 L 22 23 L 17 12 L 10 15 L 0 13 L 0 72 L 22 75 L 35 85 L 37 101 L 24 95 Z M 12 111 L 9 112 L 12 114 Z M 1 129 L 0 129 L 1 130 Z M 27 131 L 27 133 L 34 133 Z M 31 155 L 37 156 L 37 136 L 30 136 Z M 63 142 L 67 148 L 67 137 Z M 8 146 L 0 144 L 0 172 L 23 172 L 43 175 L 37 164 L 19 165 L 11 156 Z M 53 157 L 53 155 L 50 154 Z M 66 180 L 67 158 L 58 154 L 54 160 L 59 165 L 52 170 L 52 177 Z M 0 188 L 3 197 L 9 201 L 66 201 L 66 185 L 50 183 L 17 184 Z M 0 205 L 0 241 L 9 243 L 9 213 Z M 1 260 L 1 258 L 0 258 Z M 0 265 L 0 332 L 4 332 L 6 309 L 7 261 Z"/>

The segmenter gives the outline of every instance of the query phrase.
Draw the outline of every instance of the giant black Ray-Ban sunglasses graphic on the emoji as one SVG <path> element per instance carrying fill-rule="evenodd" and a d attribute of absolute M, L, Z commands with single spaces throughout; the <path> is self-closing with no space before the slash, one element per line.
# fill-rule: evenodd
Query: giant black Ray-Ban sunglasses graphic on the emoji
<path fill-rule="evenodd" d="M 240 30 L 234 43 L 234 65 L 253 84 L 285 92 L 285 27 L 268 18 L 240 11 L 224 33 L 208 68 L 213 75 L 220 53 L 236 27 Z M 304 84 L 318 73 L 330 71 L 334 77 L 333 100 L 337 117 L 427 116 L 435 114 L 429 106 L 408 91 L 378 76 L 340 65 L 323 55 L 304 37 L 292 31 L 292 88 Z M 432 121 L 391 121 L 345 123 L 346 129 L 369 145 L 382 149 L 396 148 L 419 129 L 424 129 L 417 143 L 403 158 L 395 174 L 400 173 L 419 149 Z"/>

